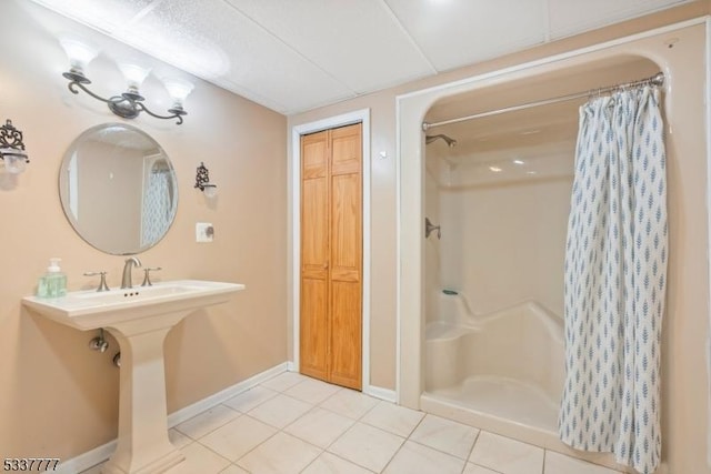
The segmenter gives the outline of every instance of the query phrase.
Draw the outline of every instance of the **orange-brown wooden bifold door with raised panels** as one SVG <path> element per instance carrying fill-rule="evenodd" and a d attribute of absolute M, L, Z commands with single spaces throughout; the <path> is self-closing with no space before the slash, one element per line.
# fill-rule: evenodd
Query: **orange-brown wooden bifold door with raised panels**
<path fill-rule="evenodd" d="M 362 127 L 301 137 L 300 371 L 361 389 Z"/>

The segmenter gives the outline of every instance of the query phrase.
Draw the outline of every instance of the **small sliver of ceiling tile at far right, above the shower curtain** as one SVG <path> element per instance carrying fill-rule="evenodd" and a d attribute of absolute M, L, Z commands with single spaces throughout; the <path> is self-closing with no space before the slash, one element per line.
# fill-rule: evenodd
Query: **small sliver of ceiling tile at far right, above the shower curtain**
<path fill-rule="evenodd" d="M 548 0 L 551 39 L 651 13 L 684 0 Z"/>

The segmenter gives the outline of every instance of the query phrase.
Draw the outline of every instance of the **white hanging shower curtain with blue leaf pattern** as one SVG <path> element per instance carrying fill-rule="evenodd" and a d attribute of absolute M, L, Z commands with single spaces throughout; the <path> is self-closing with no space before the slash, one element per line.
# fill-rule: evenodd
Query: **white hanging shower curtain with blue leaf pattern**
<path fill-rule="evenodd" d="M 667 181 L 660 92 L 580 109 L 565 244 L 561 440 L 651 474 L 661 452 Z"/>

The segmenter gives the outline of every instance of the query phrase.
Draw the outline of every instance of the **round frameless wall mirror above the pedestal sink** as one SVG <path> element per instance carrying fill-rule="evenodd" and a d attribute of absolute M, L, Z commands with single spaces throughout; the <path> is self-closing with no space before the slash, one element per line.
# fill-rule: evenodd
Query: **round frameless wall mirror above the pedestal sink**
<path fill-rule="evenodd" d="M 156 245 L 178 208 L 170 159 L 136 127 L 106 123 L 77 138 L 59 171 L 64 214 L 83 240 L 114 255 Z"/>

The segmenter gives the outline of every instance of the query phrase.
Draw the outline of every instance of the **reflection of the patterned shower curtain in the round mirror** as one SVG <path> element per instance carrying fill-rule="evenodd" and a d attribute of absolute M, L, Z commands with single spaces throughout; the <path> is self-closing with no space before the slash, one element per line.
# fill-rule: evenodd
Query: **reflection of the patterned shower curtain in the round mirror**
<path fill-rule="evenodd" d="M 170 201 L 170 171 L 151 171 L 143 193 L 141 246 L 158 242 L 170 225 L 172 215 Z"/>

